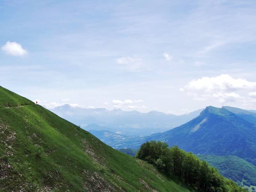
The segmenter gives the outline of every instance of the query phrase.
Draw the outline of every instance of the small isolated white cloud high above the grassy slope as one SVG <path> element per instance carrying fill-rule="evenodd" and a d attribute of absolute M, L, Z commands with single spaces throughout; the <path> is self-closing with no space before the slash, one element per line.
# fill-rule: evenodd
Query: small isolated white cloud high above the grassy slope
<path fill-rule="evenodd" d="M 6 44 L 2 46 L 2 51 L 13 56 L 23 56 L 28 54 L 28 52 L 22 48 L 21 44 L 10 41 L 7 41 Z"/>

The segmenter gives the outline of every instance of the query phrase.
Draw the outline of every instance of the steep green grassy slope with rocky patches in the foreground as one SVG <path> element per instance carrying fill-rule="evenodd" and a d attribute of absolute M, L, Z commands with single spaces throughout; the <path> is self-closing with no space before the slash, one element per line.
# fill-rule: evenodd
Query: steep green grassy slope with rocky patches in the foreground
<path fill-rule="evenodd" d="M 188 191 L 0 87 L 0 191 Z"/>

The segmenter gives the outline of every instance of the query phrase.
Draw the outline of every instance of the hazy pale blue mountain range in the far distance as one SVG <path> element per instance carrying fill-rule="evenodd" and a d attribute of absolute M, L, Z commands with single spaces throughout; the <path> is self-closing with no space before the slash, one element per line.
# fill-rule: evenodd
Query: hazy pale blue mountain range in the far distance
<path fill-rule="evenodd" d="M 86 109 L 71 107 L 68 104 L 50 110 L 84 129 L 89 124 L 97 124 L 100 127 L 111 128 L 108 130 L 112 132 L 128 136 L 145 136 L 164 132 L 184 124 L 198 116 L 203 109 L 180 116 L 158 111 L 140 113 L 139 111 L 123 111 L 121 109 L 111 111 L 106 108 Z"/>

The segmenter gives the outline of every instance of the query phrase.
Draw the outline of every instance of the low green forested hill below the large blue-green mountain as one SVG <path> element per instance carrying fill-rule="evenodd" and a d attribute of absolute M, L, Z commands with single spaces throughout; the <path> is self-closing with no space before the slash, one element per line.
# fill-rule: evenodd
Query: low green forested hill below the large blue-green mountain
<path fill-rule="evenodd" d="M 221 175 L 244 185 L 256 185 L 256 166 L 237 156 L 197 154 L 201 160 L 218 169 Z M 250 186 L 249 185 L 249 186 Z"/>

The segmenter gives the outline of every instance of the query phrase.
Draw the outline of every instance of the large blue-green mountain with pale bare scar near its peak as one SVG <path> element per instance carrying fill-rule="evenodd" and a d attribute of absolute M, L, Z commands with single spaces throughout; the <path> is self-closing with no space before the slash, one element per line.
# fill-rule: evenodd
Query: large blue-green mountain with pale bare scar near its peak
<path fill-rule="evenodd" d="M 256 165 L 255 116 L 229 110 L 206 107 L 188 123 L 145 140 L 166 141 L 195 154 L 234 155 Z"/>

